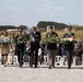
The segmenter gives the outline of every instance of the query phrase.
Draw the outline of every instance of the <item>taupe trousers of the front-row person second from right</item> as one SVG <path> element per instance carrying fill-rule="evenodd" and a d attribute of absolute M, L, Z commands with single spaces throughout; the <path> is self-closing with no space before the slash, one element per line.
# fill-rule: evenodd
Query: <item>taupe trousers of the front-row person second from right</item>
<path fill-rule="evenodd" d="M 48 50 L 49 66 L 55 67 L 56 50 Z"/>

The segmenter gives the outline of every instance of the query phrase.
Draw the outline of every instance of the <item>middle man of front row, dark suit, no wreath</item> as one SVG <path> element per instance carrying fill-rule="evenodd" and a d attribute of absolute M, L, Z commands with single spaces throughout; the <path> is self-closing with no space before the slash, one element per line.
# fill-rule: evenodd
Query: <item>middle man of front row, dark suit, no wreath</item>
<path fill-rule="evenodd" d="M 40 33 L 37 31 L 37 27 L 33 26 L 29 42 L 31 42 L 31 49 L 33 51 L 33 57 L 35 56 L 35 68 L 37 68 L 38 48 L 39 48 L 40 38 L 42 38 L 42 36 L 40 36 Z M 33 66 L 33 63 L 32 63 L 32 66 Z"/>

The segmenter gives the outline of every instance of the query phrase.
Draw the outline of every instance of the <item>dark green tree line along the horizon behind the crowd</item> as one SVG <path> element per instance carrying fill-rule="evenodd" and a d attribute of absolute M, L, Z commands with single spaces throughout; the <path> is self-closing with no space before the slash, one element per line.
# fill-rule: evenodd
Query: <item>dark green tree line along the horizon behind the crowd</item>
<path fill-rule="evenodd" d="M 45 31 L 47 28 L 47 26 L 49 25 L 52 25 L 55 26 L 57 30 L 63 30 L 68 26 L 68 24 L 64 24 L 64 23 L 58 23 L 58 22 L 46 22 L 46 21 L 39 21 L 37 23 L 37 27 L 39 30 L 43 30 Z M 20 25 L 20 26 L 14 26 L 14 25 L 0 25 L 0 31 L 3 31 L 3 30 L 14 30 L 14 28 L 19 28 L 19 27 L 22 27 L 23 30 L 27 30 L 28 27 L 26 25 Z M 75 31 L 83 31 L 83 26 L 76 26 L 74 27 Z M 43 32 L 42 31 L 42 32 Z"/>

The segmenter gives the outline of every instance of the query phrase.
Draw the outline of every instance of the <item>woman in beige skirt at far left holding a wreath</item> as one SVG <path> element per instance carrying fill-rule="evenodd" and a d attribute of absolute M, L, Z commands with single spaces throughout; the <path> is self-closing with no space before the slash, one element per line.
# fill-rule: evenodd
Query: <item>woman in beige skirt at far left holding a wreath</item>
<path fill-rule="evenodd" d="M 7 31 L 3 31 L 2 35 L 1 35 L 1 40 L 2 42 L 7 42 L 10 43 L 10 36 L 8 35 Z M 0 40 L 0 42 L 1 42 Z M 4 67 L 7 67 L 7 62 L 8 62 L 8 54 L 10 52 L 10 44 L 1 44 L 1 58 L 2 58 L 2 65 Z"/>

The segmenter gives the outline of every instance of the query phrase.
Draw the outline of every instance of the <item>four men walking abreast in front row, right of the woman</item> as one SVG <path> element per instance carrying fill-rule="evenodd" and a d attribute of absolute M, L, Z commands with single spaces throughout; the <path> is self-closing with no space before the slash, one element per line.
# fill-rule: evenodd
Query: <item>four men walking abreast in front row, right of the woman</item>
<path fill-rule="evenodd" d="M 74 33 L 72 33 L 72 27 L 68 26 L 68 33 L 66 33 L 63 35 L 63 38 L 66 37 L 74 37 Z M 23 54 L 24 54 L 24 48 L 25 48 L 25 43 L 21 42 L 17 43 L 17 40 L 20 38 L 22 38 L 22 32 L 23 28 L 19 28 L 17 30 L 17 35 L 14 36 L 14 40 L 15 40 L 15 52 L 17 55 L 17 59 L 19 59 L 19 63 L 20 63 L 20 68 L 22 68 L 23 65 Z M 33 59 L 35 56 L 35 68 L 37 68 L 37 61 L 38 61 L 38 49 L 39 49 L 39 42 L 42 40 L 42 36 L 40 33 L 37 31 L 36 26 L 33 26 L 33 31 L 28 34 L 29 35 L 29 44 L 28 44 L 28 55 L 31 57 L 29 60 L 29 67 L 33 67 Z M 54 32 L 54 27 L 50 26 L 48 33 L 46 34 L 46 37 L 50 36 L 50 38 L 56 35 L 58 36 L 58 34 L 56 32 Z M 56 57 L 56 50 L 57 50 L 57 44 L 47 44 L 47 49 L 48 49 L 48 58 L 49 58 L 49 69 L 55 68 L 55 57 Z M 69 52 L 68 54 L 68 69 L 71 68 L 71 63 L 72 63 L 72 52 L 74 49 L 74 45 L 73 43 L 71 44 L 66 44 L 66 49 Z"/>

